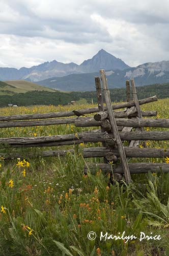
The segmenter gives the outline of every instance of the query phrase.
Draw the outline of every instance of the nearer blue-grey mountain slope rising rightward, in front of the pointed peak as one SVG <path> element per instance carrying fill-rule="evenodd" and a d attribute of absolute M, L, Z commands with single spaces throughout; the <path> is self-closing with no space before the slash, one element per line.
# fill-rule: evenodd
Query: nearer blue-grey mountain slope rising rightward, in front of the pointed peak
<path fill-rule="evenodd" d="M 53 77 L 38 84 L 63 91 L 93 91 L 94 77 L 99 72 L 86 74 L 71 74 L 65 77 Z M 136 86 L 169 82 L 169 61 L 149 62 L 136 68 L 106 71 L 109 88 L 125 87 L 125 81 L 134 78 Z"/>

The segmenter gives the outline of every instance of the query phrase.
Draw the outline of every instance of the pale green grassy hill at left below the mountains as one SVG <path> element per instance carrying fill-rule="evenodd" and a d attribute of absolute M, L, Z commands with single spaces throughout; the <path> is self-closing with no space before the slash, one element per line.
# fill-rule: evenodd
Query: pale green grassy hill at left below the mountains
<path fill-rule="evenodd" d="M 30 91 L 54 92 L 53 89 L 39 86 L 39 84 L 25 80 L 0 81 L 0 95 L 13 95 L 15 93 L 26 93 Z"/>

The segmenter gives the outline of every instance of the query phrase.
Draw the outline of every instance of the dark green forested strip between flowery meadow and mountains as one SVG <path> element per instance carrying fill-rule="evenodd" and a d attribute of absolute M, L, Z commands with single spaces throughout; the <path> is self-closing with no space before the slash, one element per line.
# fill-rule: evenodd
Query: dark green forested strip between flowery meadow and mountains
<path fill-rule="evenodd" d="M 158 98 L 169 98 L 169 83 L 164 84 L 152 84 L 150 86 L 137 87 L 138 98 L 146 98 L 153 95 L 157 95 Z M 126 90 L 124 88 L 110 89 L 110 96 L 113 102 L 125 101 Z M 12 96 L 3 95 L 0 96 L 0 106 L 8 106 L 9 103 L 16 104 L 18 106 L 27 106 L 35 104 L 43 105 L 66 105 L 72 100 L 78 101 L 80 99 L 86 99 L 87 102 L 97 102 L 96 92 L 46 92 L 46 91 L 32 91 L 27 93 L 17 93 Z"/>

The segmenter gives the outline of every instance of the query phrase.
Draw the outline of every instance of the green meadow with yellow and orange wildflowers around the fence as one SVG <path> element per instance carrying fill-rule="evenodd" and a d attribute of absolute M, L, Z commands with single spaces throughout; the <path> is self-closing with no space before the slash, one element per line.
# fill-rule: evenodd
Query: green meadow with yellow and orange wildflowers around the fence
<path fill-rule="evenodd" d="M 157 110 L 158 118 L 168 118 L 168 104 L 169 99 L 158 100 L 142 109 Z M 81 105 L 81 109 L 87 107 L 89 105 Z M 76 106 L 1 108 L 0 115 L 73 109 Z M 86 130 L 89 129 L 71 124 L 19 127 L 1 129 L 1 137 L 36 137 Z M 150 128 L 153 130 L 157 129 Z M 42 148 L 16 150 L 6 146 L 6 153 L 20 152 L 24 157 L 10 161 L 0 159 L 0 255 L 169 255 L 169 175 L 162 172 L 132 175 L 130 185 L 123 180 L 109 187 L 109 177 L 101 170 L 96 169 L 96 175 L 83 174 L 82 149 L 91 145 L 93 143 L 75 145 L 75 154 L 53 158 L 37 158 Z M 0 155 L 4 152 L 3 146 Z M 147 146 L 167 148 L 168 141 L 147 141 Z M 28 159 L 28 152 L 34 153 L 35 158 Z M 103 161 L 101 158 L 89 160 Z M 167 159 L 130 159 L 133 161 L 167 162 Z M 91 231 L 97 235 L 94 240 L 88 239 Z M 124 231 L 125 239 L 111 239 L 121 237 Z M 100 241 L 101 232 L 105 236 Z M 156 240 L 140 241 L 140 232 L 149 238 L 158 235 L 161 239 L 157 240 L 156 236 Z M 127 238 L 131 235 L 135 238 Z M 94 238 L 94 233 L 90 238 Z"/>

